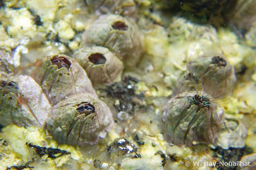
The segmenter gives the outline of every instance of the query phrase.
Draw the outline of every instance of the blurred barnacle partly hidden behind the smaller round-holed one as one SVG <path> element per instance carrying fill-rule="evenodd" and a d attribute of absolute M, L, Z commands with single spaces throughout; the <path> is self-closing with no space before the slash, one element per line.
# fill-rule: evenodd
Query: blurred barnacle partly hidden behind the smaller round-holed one
<path fill-rule="evenodd" d="M 84 45 L 106 47 L 125 65 L 136 65 L 140 60 L 140 39 L 136 26 L 115 14 L 101 15 L 82 36 Z"/>

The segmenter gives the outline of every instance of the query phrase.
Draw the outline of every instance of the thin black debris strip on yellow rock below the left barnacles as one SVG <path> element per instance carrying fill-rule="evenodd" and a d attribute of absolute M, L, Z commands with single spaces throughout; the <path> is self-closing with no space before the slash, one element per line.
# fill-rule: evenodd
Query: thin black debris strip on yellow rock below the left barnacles
<path fill-rule="evenodd" d="M 66 150 L 60 150 L 58 148 L 52 148 L 52 147 L 41 147 L 41 146 L 37 146 L 35 144 L 31 144 L 31 143 L 26 143 L 26 145 L 32 149 L 35 150 L 35 152 L 39 155 L 39 156 L 44 156 L 47 155 L 48 158 L 51 159 L 55 159 L 58 158 L 60 156 L 63 155 L 67 155 L 70 154 L 70 152 L 66 151 Z"/>

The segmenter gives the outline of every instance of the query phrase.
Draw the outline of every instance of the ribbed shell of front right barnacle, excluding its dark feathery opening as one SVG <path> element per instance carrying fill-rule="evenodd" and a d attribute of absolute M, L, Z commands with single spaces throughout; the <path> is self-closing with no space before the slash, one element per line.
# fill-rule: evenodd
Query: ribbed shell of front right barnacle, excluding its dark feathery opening
<path fill-rule="evenodd" d="M 223 110 L 213 102 L 209 107 L 197 105 L 193 100 L 195 95 L 195 92 L 183 92 L 166 104 L 163 121 L 167 141 L 177 145 L 214 142 L 224 121 Z"/>

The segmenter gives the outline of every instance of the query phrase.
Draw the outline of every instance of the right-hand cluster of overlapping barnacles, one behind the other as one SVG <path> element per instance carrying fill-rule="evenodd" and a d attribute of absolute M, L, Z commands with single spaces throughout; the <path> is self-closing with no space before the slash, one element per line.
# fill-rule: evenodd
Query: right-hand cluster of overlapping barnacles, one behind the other
<path fill-rule="evenodd" d="M 224 122 L 236 75 L 220 55 L 198 57 L 187 64 L 164 108 L 166 140 L 177 145 L 214 143 Z"/>

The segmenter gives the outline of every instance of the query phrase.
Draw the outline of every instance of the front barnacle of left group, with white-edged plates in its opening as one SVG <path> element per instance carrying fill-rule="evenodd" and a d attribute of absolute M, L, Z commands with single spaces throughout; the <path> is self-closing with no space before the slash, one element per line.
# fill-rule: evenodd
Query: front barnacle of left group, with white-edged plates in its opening
<path fill-rule="evenodd" d="M 113 117 L 108 106 L 98 98 L 76 94 L 54 105 L 46 124 L 58 143 L 84 146 L 105 138 Z"/>

